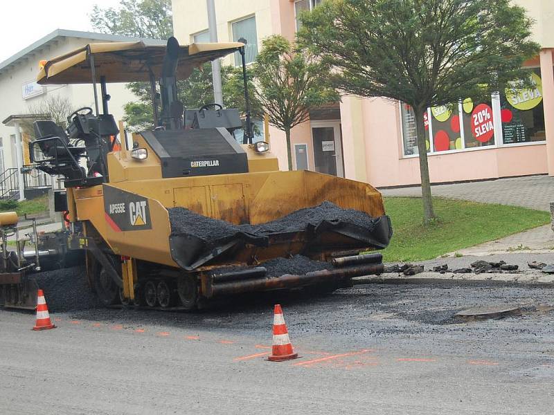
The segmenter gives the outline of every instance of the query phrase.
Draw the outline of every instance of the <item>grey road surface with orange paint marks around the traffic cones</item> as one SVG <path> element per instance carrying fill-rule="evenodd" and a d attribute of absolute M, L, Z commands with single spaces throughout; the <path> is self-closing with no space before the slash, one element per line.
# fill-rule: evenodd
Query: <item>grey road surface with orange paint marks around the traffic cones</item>
<path fill-rule="evenodd" d="M 264 360 L 283 305 L 301 358 Z M 472 306 L 523 315 L 456 322 Z M 0 311 L 2 414 L 551 414 L 553 289 L 368 285 L 198 313 Z"/>

